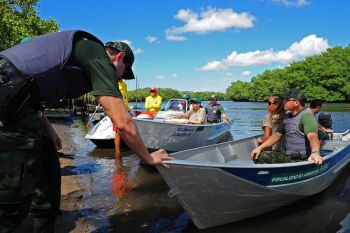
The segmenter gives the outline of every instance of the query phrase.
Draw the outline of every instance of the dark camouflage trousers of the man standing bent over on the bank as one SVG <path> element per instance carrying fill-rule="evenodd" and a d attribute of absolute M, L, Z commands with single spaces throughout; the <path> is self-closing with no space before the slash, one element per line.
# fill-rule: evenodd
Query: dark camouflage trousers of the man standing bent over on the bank
<path fill-rule="evenodd" d="M 38 114 L 29 107 L 0 127 L 0 233 L 12 232 L 29 211 L 35 232 L 53 232 L 60 167 L 57 153 L 43 149 L 42 136 Z"/>

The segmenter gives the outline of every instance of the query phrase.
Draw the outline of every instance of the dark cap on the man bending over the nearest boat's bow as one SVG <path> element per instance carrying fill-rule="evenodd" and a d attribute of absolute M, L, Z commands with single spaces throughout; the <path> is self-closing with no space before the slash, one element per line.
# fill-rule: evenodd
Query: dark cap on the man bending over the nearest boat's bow
<path fill-rule="evenodd" d="M 130 46 L 127 43 L 121 41 L 111 41 L 105 44 L 105 47 L 109 47 L 117 50 L 118 52 L 124 52 L 124 64 L 126 65 L 123 74 L 123 79 L 135 79 L 134 72 L 132 71 L 132 64 L 134 64 L 135 56 Z"/>

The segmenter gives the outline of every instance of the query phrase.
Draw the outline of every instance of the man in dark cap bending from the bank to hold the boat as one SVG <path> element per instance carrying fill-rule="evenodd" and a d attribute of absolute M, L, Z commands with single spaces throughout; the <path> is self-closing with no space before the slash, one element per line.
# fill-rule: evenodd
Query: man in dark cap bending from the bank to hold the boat
<path fill-rule="evenodd" d="M 147 151 L 118 89 L 116 76 L 134 76 L 133 52 L 123 42 L 108 47 L 118 53 L 88 32 L 69 30 L 0 52 L 0 232 L 20 225 L 31 204 L 35 232 L 54 231 L 62 143 L 42 110 L 60 99 L 91 91 L 131 150 L 148 164 L 168 167 L 164 160 L 172 158 L 164 150 Z"/>

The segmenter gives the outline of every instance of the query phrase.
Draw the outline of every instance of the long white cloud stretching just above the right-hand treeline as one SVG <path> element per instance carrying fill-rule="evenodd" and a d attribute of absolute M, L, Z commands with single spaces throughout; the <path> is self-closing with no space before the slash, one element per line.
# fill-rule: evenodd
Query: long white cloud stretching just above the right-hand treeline
<path fill-rule="evenodd" d="M 293 43 L 286 50 L 274 51 L 273 49 L 269 49 L 246 53 L 237 53 L 237 51 L 233 51 L 221 61 L 213 60 L 208 62 L 202 66 L 200 70 L 225 70 L 232 66 L 266 66 L 274 62 L 289 64 L 304 57 L 320 54 L 327 48 L 329 48 L 327 40 L 318 38 L 316 35 L 309 35 L 301 41 Z"/>

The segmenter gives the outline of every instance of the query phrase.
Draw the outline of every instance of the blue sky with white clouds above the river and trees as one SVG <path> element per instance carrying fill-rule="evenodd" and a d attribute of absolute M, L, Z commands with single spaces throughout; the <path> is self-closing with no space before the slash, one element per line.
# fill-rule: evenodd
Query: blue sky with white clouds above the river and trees
<path fill-rule="evenodd" d="M 60 30 L 129 43 L 141 88 L 220 92 L 348 46 L 349 10 L 346 0 L 41 0 L 38 7 Z"/>

